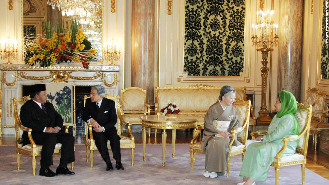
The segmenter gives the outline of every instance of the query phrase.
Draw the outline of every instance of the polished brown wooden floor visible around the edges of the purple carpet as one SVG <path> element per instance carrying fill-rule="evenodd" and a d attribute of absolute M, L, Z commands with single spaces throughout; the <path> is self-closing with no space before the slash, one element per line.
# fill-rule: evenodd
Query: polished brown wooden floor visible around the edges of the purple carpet
<path fill-rule="evenodd" d="M 128 133 L 123 133 L 128 136 Z M 135 143 L 142 143 L 142 134 L 141 133 L 133 133 L 135 137 Z M 176 131 L 176 143 L 190 143 L 192 139 L 191 131 Z M 84 144 L 85 137 L 77 136 L 76 144 Z M 157 137 L 154 137 L 154 133 L 151 133 L 151 136 L 146 136 L 147 144 L 162 144 L 162 136 L 161 133 L 157 133 Z M 172 134 L 171 131 L 167 131 L 167 143 L 172 143 Z M 15 137 L 13 135 L 3 135 L 0 139 L 0 146 L 2 145 L 15 145 Z M 325 154 L 319 150 L 314 150 L 314 146 L 312 146 L 312 141 L 309 143 L 308 153 L 307 153 L 307 164 L 306 168 L 309 170 L 321 175 L 322 177 L 329 180 L 329 155 Z"/>

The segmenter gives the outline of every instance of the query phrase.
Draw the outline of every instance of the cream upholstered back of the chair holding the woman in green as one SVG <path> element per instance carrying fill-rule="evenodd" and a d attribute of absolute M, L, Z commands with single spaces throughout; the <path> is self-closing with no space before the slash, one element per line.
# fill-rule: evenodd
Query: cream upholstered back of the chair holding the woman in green
<path fill-rule="evenodd" d="M 305 133 L 301 138 L 299 138 L 299 143 L 297 146 L 296 151 L 301 152 L 307 152 L 307 146 L 308 146 L 308 138 L 309 138 L 309 132 L 310 132 L 310 123 L 311 123 L 311 114 L 312 114 L 312 105 L 306 106 L 300 103 L 297 103 L 297 112 L 294 114 L 295 118 L 298 122 L 299 126 L 299 133 L 303 133 L 305 129 Z"/>

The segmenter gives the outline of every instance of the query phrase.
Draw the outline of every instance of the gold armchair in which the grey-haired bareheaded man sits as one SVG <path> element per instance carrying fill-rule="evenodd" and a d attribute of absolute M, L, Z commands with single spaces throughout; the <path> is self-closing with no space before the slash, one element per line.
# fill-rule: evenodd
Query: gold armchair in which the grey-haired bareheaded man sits
<path fill-rule="evenodd" d="M 89 98 L 85 95 L 84 97 L 84 104 L 86 104 L 86 99 Z M 119 108 L 119 102 L 120 102 L 120 97 L 119 96 L 110 96 L 108 94 L 105 94 L 105 98 L 111 99 L 115 102 L 115 109 L 117 111 L 118 119 L 117 119 L 117 134 L 120 136 L 120 148 L 130 148 L 131 149 L 131 166 L 134 166 L 134 151 L 135 151 L 135 138 L 133 133 L 131 132 L 131 123 L 127 123 L 128 125 L 128 133 L 130 137 L 126 137 L 121 135 L 121 124 L 120 124 L 120 108 Z M 122 119 L 122 118 L 121 118 Z M 88 132 L 90 138 L 88 138 Z M 91 123 L 86 123 L 85 122 L 85 134 L 86 134 L 86 161 L 88 162 L 89 158 L 89 152 L 90 152 L 90 168 L 93 168 L 93 162 L 94 162 L 94 150 L 97 150 L 95 140 L 92 135 L 92 125 Z M 110 141 L 107 141 L 107 148 L 111 149 L 110 146 Z"/>

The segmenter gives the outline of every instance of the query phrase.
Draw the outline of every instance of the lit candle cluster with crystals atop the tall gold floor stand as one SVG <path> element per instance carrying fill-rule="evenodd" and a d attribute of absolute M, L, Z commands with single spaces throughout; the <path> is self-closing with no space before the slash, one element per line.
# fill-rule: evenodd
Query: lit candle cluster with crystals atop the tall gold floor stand
<path fill-rule="evenodd" d="M 273 45 L 277 46 L 278 43 L 277 28 L 279 27 L 273 20 L 274 10 L 269 11 L 265 9 L 263 11 L 261 9 L 256 12 L 256 15 L 256 25 L 252 24 L 252 43 L 258 49 L 272 49 Z M 274 36 L 273 31 L 275 32 Z"/>

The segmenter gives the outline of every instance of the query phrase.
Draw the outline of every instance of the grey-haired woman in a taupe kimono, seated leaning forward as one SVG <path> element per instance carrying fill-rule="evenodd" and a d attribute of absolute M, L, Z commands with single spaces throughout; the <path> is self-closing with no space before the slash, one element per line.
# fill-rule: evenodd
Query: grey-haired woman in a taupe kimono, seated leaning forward
<path fill-rule="evenodd" d="M 239 127 L 237 110 L 232 106 L 236 90 L 230 86 L 223 86 L 220 90 L 219 100 L 210 106 L 204 118 L 204 132 L 201 149 L 206 152 L 205 172 L 208 178 L 224 175 L 231 140 L 231 130 Z M 225 127 L 216 127 L 216 122 L 228 122 Z M 241 143 L 234 140 L 233 145 Z"/>

